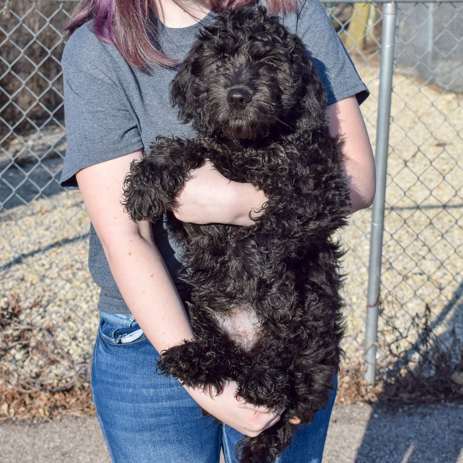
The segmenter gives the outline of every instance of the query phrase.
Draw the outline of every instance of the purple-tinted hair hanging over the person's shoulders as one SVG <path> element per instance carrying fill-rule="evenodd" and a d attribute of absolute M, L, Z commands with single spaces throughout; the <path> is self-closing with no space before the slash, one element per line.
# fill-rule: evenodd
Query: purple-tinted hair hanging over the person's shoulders
<path fill-rule="evenodd" d="M 175 1 L 175 0 L 174 0 Z M 210 0 L 218 13 L 254 3 L 255 0 Z M 270 13 L 296 11 L 297 0 L 266 0 Z M 113 45 L 127 63 L 138 69 L 150 64 L 173 67 L 176 60 L 165 56 L 150 41 L 150 0 L 80 0 L 75 6 L 64 34 L 69 38 L 81 25 L 94 20 L 94 33 Z"/>

